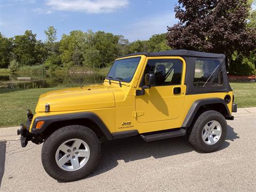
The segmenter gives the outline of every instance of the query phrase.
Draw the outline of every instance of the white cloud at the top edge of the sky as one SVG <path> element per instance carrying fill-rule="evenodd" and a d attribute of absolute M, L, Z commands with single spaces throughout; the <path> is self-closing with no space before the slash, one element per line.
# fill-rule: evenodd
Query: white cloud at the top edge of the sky
<path fill-rule="evenodd" d="M 47 0 L 46 5 L 57 11 L 78 11 L 85 13 L 111 13 L 129 4 L 128 0 Z"/>

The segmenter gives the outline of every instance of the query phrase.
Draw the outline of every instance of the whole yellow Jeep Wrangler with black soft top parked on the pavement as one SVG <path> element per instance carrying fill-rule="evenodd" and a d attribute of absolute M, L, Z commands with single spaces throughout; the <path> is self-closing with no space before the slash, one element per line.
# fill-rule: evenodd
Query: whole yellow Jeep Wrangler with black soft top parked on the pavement
<path fill-rule="evenodd" d="M 102 85 L 51 91 L 21 124 L 21 146 L 42 147 L 54 179 L 84 178 L 99 163 L 100 138 L 145 141 L 187 134 L 198 151 L 218 150 L 236 112 L 224 54 L 187 50 L 141 52 L 115 60 Z"/>

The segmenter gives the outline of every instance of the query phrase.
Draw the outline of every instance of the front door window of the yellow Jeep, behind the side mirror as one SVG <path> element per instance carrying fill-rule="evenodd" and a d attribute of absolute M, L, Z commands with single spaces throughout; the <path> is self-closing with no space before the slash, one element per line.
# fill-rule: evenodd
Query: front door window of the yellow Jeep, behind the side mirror
<path fill-rule="evenodd" d="M 147 62 L 144 76 L 147 73 L 155 74 L 155 86 L 180 85 L 182 61 L 179 59 L 150 59 Z"/>

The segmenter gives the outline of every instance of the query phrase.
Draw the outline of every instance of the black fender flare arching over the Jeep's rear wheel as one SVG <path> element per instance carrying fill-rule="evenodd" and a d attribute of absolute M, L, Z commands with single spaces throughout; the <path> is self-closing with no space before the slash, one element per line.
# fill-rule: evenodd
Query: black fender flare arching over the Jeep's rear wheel
<path fill-rule="evenodd" d="M 198 109 L 207 104 L 223 105 L 225 107 L 226 113 L 227 113 L 227 115 L 225 117 L 231 117 L 227 103 L 223 99 L 220 99 L 220 98 L 198 99 L 191 105 L 190 109 L 188 110 L 187 116 L 182 123 L 182 127 L 189 127 L 191 125 L 191 123 L 193 122 Z"/>

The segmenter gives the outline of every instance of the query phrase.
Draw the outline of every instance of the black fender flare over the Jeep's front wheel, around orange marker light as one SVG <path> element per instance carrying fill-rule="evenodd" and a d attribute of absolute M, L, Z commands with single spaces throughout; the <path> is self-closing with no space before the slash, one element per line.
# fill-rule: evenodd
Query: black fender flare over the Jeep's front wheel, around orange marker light
<path fill-rule="evenodd" d="M 93 123 L 97 124 L 102 131 L 102 133 L 106 136 L 108 140 L 113 140 L 113 135 L 109 131 L 108 127 L 103 123 L 102 119 L 91 112 L 81 112 L 81 113 L 70 113 L 70 114 L 62 114 L 62 115 L 49 115 L 36 117 L 34 123 L 32 125 L 31 133 L 41 134 L 43 133 L 49 125 L 56 122 L 69 121 L 73 119 L 89 119 Z M 45 123 L 40 129 L 36 129 L 36 124 L 38 121 L 44 121 Z"/>

